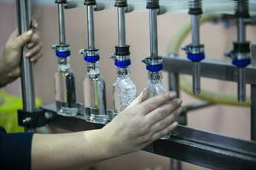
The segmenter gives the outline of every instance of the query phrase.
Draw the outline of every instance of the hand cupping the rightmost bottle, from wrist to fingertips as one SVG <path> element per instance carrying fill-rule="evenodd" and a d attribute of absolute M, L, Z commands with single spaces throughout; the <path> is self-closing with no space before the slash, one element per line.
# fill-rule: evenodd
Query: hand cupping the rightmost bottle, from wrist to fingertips
<path fill-rule="evenodd" d="M 119 156 L 141 150 L 148 144 L 172 132 L 182 111 L 182 100 L 176 94 L 164 94 L 143 101 L 141 94 L 125 111 L 102 128 L 108 140 L 109 152 Z"/>

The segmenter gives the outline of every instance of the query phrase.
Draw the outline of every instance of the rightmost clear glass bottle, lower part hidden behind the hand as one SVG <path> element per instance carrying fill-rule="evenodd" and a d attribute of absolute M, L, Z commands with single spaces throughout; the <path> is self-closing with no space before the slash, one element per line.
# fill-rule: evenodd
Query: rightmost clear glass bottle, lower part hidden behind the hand
<path fill-rule="evenodd" d="M 165 94 L 166 92 L 167 90 L 162 84 L 162 72 L 148 71 L 148 85 L 143 90 L 143 101 L 159 94 Z"/>

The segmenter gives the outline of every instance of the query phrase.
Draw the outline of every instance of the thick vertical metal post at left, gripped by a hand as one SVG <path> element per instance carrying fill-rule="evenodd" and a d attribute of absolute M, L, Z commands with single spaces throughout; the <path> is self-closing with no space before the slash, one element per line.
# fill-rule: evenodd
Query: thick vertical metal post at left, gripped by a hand
<path fill-rule="evenodd" d="M 19 34 L 22 34 L 30 29 L 31 24 L 31 2 L 30 0 L 16 0 L 16 12 L 18 21 Z M 35 95 L 32 76 L 32 62 L 25 56 L 27 51 L 26 46 L 22 48 L 21 53 L 21 88 L 22 101 L 24 111 L 34 111 Z"/>

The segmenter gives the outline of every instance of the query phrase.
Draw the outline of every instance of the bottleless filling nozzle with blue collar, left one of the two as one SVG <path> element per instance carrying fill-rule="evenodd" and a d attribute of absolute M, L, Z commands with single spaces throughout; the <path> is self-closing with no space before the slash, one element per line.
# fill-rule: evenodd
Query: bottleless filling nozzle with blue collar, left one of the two
<path fill-rule="evenodd" d="M 189 14 L 191 14 L 192 42 L 183 50 L 188 54 L 188 59 L 193 62 L 193 92 L 201 93 L 201 60 L 205 59 L 204 45 L 200 42 L 200 18 L 202 14 L 201 0 L 189 1 Z"/>

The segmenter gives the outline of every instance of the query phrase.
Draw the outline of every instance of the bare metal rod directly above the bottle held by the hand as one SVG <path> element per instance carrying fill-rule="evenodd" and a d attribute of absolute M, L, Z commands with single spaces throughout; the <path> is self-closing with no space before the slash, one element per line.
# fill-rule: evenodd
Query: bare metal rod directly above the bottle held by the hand
<path fill-rule="evenodd" d="M 158 9 L 149 9 L 150 57 L 152 59 L 158 57 L 157 14 Z"/>

